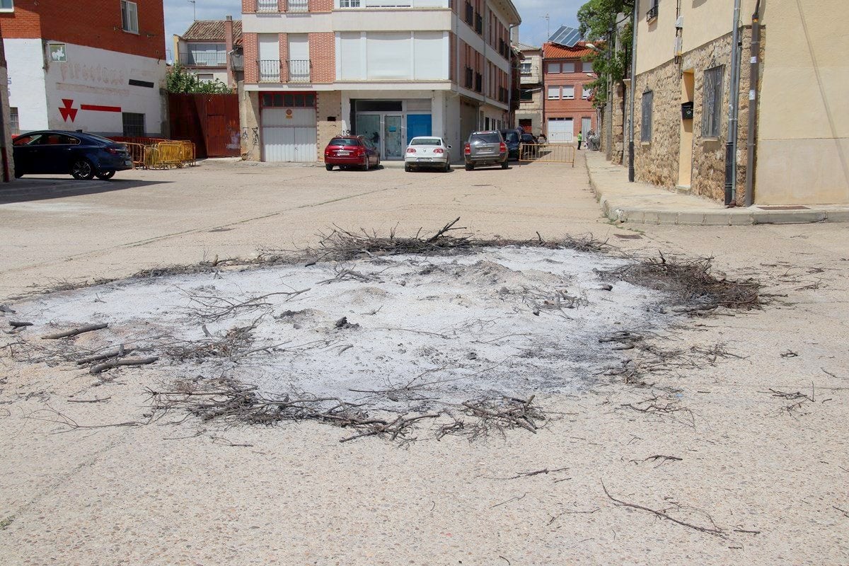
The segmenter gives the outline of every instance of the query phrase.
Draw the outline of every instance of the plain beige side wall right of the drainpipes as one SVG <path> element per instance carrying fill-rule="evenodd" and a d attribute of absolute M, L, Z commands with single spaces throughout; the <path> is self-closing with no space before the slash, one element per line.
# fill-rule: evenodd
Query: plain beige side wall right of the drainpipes
<path fill-rule="evenodd" d="M 767 3 L 757 204 L 849 203 L 847 19 L 846 0 Z"/>

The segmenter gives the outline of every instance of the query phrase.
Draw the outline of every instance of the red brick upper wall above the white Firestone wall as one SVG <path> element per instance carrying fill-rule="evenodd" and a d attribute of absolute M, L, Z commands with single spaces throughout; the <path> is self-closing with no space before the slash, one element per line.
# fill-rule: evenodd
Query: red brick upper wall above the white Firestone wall
<path fill-rule="evenodd" d="M 14 12 L 0 14 L 0 32 L 4 38 L 41 37 L 164 59 L 162 0 L 135 2 L 138 7 L 138 34 L 121 29 L 119 0 L 15 0 Z"/>

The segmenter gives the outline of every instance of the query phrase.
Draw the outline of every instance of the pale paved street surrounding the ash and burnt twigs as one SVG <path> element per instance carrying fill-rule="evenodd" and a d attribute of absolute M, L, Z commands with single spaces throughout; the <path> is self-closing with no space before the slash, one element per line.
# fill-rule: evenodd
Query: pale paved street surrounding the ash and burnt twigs
<path fill-rule="evenodd" d="M 21 196 L 29 186 L 42 195 Z M 539 434 L 475 443 L 340 444 L 347 434 L 320 423 L 225 428 L 177 416 L 98 428 L 143 421 L 145 388 L 158 386 L 149 373 L 94 387 L 76 368 L 0 358 L 0 562 L 849 562 L 847 224 L 617 225 L 601 215 L 580 153 L 574 168 L 448 174 L 205 161 L 12 188 L 0 195 L 0 304 L 59 283 L 315 244 L 334 225 L 406 235 L 457 216 L 479 237 L 593 233 L 634 253 L 713 256 L 773 296 L 762 311 L 682 317 L 663 343 L 733 356 L 643 387 L 588 376 L 582 395 L 543 400 L 558 418 Z M 770 389 L 811 399 L 790 414 Z M 651 395 L 679 400 L 692 420 L 622 408 Z M 94 428 L 57 433 L 47 407 Z M 678 503 L 671 516 L 727 536 L 611 496 Z"/>

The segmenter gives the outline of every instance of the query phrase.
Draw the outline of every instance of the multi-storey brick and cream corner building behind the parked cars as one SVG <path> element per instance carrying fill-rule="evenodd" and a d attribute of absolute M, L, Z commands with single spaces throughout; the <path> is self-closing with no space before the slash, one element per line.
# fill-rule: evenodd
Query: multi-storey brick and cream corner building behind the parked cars
<path fill-rule="evenodd" d="M 408 140 L 509 126 L 510 0 L 243 0 L 243 155 L 315 161 L 341 132 Z"/>

